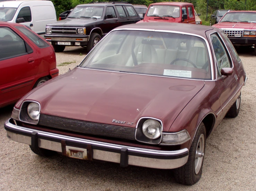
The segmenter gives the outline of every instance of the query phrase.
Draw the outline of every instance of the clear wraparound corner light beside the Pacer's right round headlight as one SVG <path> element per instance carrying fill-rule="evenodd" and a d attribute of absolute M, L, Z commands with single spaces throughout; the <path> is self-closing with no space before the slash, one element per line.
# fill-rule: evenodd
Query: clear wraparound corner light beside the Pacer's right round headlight
<path fill-rule="evenodd" d="M 190 136 L 187 130 L 184 129 L 176 133 L 163 133 L 161 144 L 177 145 L 177 144 L 183 144 L 188 140 L 190 140 Z"/>

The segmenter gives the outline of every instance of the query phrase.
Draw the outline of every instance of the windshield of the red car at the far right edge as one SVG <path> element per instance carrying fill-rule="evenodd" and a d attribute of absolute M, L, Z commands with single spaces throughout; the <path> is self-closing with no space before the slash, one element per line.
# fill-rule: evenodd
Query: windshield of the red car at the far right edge
<path fill-rule="evenodd" d="M 229 12 L 221 22 L 256 22 L 256 13 L 250 12 Z"/>

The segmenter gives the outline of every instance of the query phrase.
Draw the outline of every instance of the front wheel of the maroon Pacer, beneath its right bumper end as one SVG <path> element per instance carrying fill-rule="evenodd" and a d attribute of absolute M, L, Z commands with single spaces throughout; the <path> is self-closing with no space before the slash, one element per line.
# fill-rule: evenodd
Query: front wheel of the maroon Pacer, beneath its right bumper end
<path fill-rule="evenodd" d="M 174 169 L 174 178 L 178 183 L 193 185 L 200 180 L 204 162 L 205 143 L 206 130 L 204 123 L 201 123 L 189 149 L 187 163 L 182 167 Z"/>

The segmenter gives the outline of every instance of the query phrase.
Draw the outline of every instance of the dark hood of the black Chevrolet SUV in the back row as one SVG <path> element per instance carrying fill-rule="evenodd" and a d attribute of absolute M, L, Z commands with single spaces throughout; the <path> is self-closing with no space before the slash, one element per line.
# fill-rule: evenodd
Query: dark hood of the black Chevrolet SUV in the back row
<path fill-rule="evenodd" d="M 47 24 L 48 27 L 81 27 L 83 25 L 88 25 L 90 23 L 95 23 L 97 21 L 100 21 L 101 19 L 64 19 L 57 21 L 52 24 Z"/>

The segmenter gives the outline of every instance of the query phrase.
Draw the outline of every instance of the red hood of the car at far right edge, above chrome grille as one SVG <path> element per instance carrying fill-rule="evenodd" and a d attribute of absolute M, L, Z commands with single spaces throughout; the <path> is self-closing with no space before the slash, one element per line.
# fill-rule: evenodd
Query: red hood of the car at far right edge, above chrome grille
<path fill-rule="evenodd" d="M 233 28 L 233 29 L 256 29 L 256 23 L 248 23 L 248 22 L 220 22 L 218 24 L 214 24 L 213 27 L 216 28 Z"/>

